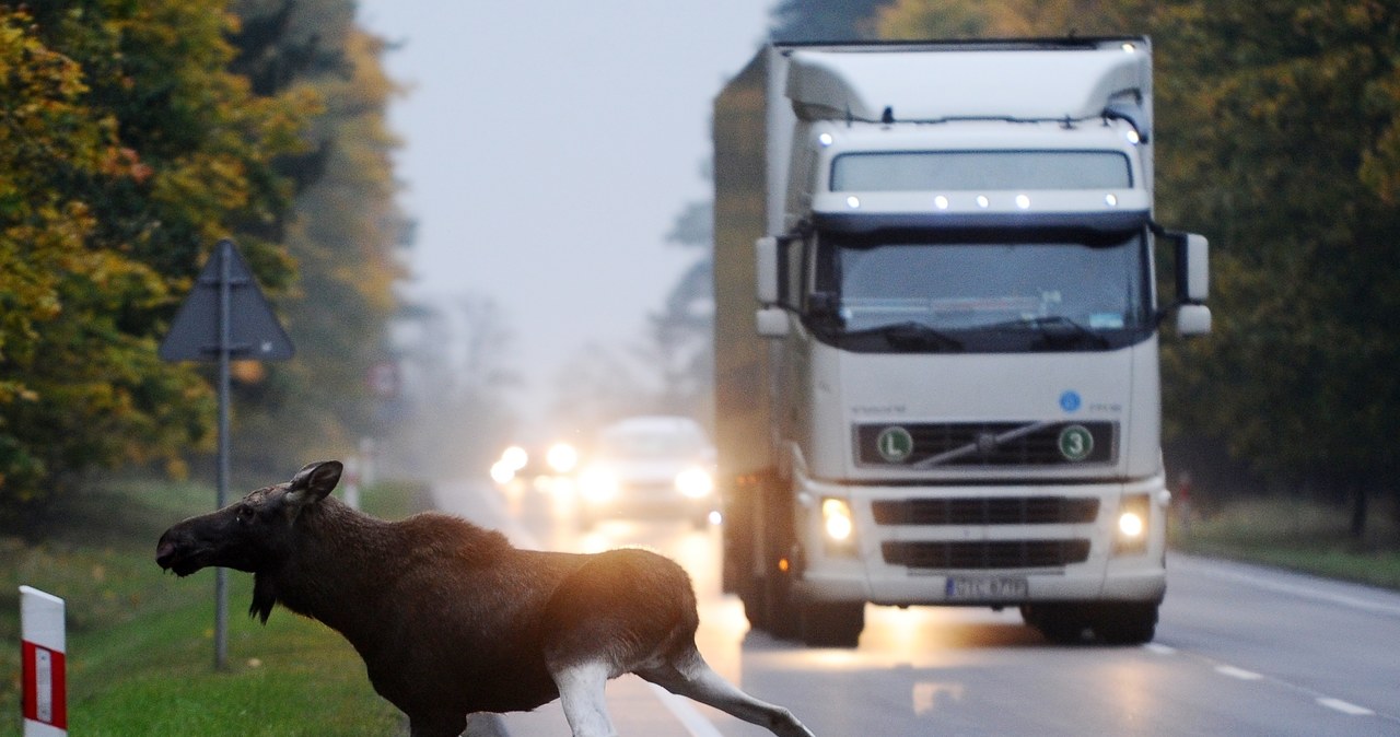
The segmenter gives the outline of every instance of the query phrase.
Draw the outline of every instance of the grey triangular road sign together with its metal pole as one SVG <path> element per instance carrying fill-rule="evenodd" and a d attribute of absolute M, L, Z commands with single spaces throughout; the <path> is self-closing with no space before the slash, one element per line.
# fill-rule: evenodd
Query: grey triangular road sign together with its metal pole
<path fill-rule="evenodd" d="M 228 503 L 230 362 L 286 361 L 291 340 L 232 241 L 220 241 L 161 341 L 162 361 L 218 361 L 218 491 Z M 214 668 L 228 659 L 228 573 L 214 569 Z"/>

